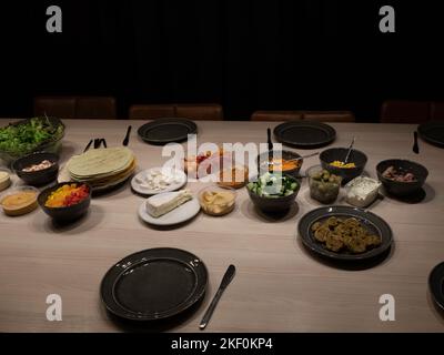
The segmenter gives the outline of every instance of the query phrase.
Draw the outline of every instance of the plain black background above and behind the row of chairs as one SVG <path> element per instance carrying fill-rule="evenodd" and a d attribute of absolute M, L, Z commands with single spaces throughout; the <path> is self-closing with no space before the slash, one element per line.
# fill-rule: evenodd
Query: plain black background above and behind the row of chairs
<path fill-rule="evenodd" d="M 47 7 L 63 32 L 46 31 Z M 396 10 L 396 33 L 379 9 Z M 29 116 L 46 94 L 132 103 L 219 102 L 255 110 L 352 110 L 385 99 L 444 101 L 444 12 L 436 1 L 125 0 L 0 4 L 0 116 Z"/>

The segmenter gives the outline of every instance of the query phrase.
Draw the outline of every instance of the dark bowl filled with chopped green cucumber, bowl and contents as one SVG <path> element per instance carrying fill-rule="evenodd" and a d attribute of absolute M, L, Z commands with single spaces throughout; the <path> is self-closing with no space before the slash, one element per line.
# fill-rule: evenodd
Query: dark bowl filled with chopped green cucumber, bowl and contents
<path fill-rule="evenodd" d="M 266 172 L 246 185 L 250 199 L 263 212 L 289 210 L 301 189 L 300 180 L 292 175 Z"/>

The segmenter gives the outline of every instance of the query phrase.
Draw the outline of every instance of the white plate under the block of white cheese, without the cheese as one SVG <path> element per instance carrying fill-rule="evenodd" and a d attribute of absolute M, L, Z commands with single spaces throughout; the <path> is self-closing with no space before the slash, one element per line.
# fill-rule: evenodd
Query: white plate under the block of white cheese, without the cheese
<path fill-rule="evenodd" d="M 171 194 L 172 192 L 165 192 L 162 195 Z M 157 199 L 160 194 L 151 196 L 150 199 Z M 148 200 L 150 200 L 148 199 Z M 201 210 L 201 205 L 199 200 L 193 196 L 192 200 L 186 201 L 184 204 L 181 204 L 179 207 L 170 211 L 167 214 L 161 215 L 160 217 L 153 217 L 147 212 L 147 201 L 144 200 L 143 203 L 139 207 L 139 216 L 147 223 L 153 225 L 174 225 L 188 220 L 191 220 L 195 216 L 199 211 Z"/>

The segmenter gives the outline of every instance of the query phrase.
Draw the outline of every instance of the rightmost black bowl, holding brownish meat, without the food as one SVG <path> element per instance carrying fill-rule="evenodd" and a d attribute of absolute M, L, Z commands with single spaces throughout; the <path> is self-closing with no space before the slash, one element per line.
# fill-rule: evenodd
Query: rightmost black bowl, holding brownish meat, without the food
<path fill-rule="evenodd" d="M 401 182 L 384 178 L 382 174 L 390 166 L 403 173 L 412 173 L 415 175 L 416 181 Z M 403 159 L 389 159 L 380 162 L 376 165 L 376 173 L 385 191 L 398 197 L 407 196 L 420 191 L 428 176 L 428 171 L 423 165 Z"/>

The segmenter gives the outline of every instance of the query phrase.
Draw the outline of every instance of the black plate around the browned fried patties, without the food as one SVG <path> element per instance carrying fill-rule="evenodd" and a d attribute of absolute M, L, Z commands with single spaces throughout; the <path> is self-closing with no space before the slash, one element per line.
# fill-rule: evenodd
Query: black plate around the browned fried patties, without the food
<path fill-rule="evenodd" d="M 382 239 L 380 246 L 367 250 L 361 254 L 351 254 L 346 252 L 332 252 L 327 250 L 322 243 L 314 239 L 311 226 L 315 222 L 322 222 L 329 217 L 355 217 L 359 220 L 372 234 L 377 234 Z M 373 214 L 361 209 L 349 207 L 349 206 L 325 206 L 320 207 L 306 213 L 299 222 L 299 235 L 302 239 L 303 244 L 314 253 L 322 256 L 336 260 L 336 261 L 362 261 L 373 258 L 384 253 L 392 245 L 392 230 L 389 224 Z"/>

